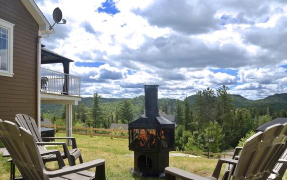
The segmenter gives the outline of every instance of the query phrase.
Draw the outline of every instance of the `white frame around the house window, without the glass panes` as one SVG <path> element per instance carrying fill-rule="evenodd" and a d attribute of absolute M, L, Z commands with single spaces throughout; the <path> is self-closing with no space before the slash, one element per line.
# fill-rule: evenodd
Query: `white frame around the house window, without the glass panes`
<path fill-rule="evenodd" d="M 0 27 L 8 29 L 8 70 L 0 70 L 0 76 L 8 76 L 13 77 L 13 31 L 14 31 L 14 24 L 0 19 Z"/>

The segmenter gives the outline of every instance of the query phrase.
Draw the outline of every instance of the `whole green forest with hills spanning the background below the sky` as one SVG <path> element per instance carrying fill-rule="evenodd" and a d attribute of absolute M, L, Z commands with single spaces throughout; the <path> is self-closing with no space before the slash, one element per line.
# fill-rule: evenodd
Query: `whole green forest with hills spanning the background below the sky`
<path fill-rule="evenodd" d="M 175 115 L 177 150 L 204 150 L 211 139 L 211 152 L 236 147 L 254 134 L 260 125 L 276 117 L 287 117 L 287 94 L 274 94 L 264 99 L 248 100 L 228 93 L 225 85 L 206 88 L 185 99 L 159 99 L 159 109 Z M 73 126 L 109 128 L 111 123 L 133 121 L 143 114 L 145 97 L 102 98 L 98 93 L 83 98 L 73 106 Z M 65 107 L 41 105 L 43 118 L 54 124 L 65 124 Z"/>

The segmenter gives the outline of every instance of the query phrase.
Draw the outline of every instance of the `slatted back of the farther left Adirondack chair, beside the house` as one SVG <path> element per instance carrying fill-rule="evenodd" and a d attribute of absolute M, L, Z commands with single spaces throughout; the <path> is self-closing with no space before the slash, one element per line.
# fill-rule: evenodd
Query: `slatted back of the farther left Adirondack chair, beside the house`
<path fill-rule="evenodd" d="M 19 127 L 23 127 L 24 129 L 29 130 L 34 136 L 36 142 L 43 142 L 35 119 L 26 114 L 17 114 L 15 117 L 15 121 Z"/>

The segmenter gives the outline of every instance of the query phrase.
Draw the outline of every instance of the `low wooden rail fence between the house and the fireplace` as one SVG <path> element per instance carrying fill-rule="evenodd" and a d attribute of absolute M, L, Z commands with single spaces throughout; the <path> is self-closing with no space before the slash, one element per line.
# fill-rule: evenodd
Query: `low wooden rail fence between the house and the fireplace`
<path fill-rule="evenodd" d="M 41 125 L 41 127 L 54 128 L 55 130 L 58 130 L 58 133 L 66 133 L 65 131 L 62 130 L 62 129 L 66 129 L 66 126 Z M 80 131 L 74 131 L 74 130 L 80 130 Z M 91 137 L 92 136 L 105 136 L 105 137 L 111 137 L 111 138 L 113 137 L 114 138 L 128 138 L 128 135 L 124 135 L 124 134 L 128 134 L 127 130 L 100 129 L 100 128 L 93 128 L 93 127 L 90 127 L 90 128 L 73 127 L 73 134 L 90 135 Z"/>

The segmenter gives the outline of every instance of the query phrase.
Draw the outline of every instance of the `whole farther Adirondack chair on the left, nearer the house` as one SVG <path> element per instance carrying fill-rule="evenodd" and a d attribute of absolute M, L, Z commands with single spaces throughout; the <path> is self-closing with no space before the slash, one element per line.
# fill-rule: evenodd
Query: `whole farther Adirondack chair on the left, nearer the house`
<path fill-rule="evenodd" d="M 38 145 L 42 145 L 41 149 L 45 150 L 44 145 L 61 145 L 63 147 L 63 152 L 61 156 L 63 159 L 67 158 L 69 165 L 76 165 L 76 159 L 79 158 L 80 163 L 83 163 L 81 151 L 77 148 L 76 139 L 74 137 L 51 137 L 51 138 L 41 138 L 38 127 L 36 125 L 35 119 L 29 117 L 26 114 L 17 114 L 15 117 L 16 124 L 26 130 L 29 130 L 34 136 Z M 68 150 L 66 143 L 63 142 L 43 142 L 44 140 L 56 140 L 56 139 L 69 139 L 72 141 L 72 149 Z M 57 161 L 55 154 L 42 156 L 43 162 Z"/>

